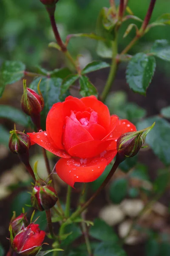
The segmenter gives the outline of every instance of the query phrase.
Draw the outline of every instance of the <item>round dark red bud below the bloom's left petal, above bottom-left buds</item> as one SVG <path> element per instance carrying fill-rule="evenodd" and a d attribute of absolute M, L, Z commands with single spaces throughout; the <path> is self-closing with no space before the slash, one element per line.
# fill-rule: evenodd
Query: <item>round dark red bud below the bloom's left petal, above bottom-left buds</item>
<path fill-rule="evenodd" d="M 52 208 L 57 202 L 57 193 L 51 186 L 34 186 L 31 196 L 32 206 L 39 211 Z"/>

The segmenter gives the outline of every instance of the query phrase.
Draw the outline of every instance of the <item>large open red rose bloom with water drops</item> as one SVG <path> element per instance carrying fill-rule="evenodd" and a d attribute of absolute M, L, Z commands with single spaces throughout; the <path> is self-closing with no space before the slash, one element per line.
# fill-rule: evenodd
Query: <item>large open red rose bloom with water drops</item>
<path fill-rule="evenodd" d="M 116 141 L 136 131 L 128 120 L 110 116 L 108 107 L 95 96 L 82 99 L 68 96 L 52 106 L 46 131 L 28 133 L 37 143 L 61 157 L 56 172 L 68 185 L 96 180 L 116 156 Z"/>

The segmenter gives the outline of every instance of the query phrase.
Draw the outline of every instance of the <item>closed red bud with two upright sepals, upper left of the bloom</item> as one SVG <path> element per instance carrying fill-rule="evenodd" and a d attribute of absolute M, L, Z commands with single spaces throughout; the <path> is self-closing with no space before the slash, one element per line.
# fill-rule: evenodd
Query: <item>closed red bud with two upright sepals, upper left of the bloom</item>
<path fill-rule="evenodd" d="M 38 91 L 40 91 L 38 84 Z M 40 114 L 44 108 L 44 100 L 40 93 L 36 93 L 34 90 L 26 86 L 26 80 L 23 80 L 23 96 L 21 98 L 21 108 L 28 115 L 37 115 Z"/>

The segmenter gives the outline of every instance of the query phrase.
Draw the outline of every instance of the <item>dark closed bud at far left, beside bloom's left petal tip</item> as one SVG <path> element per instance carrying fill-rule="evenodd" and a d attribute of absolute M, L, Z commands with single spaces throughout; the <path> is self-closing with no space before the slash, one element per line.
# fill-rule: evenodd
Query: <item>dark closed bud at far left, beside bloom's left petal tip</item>
<path fill-rule="evenodd" d="M 27 134 L 21 131 L 12 130 L 10 131 L 9 138 L 9 149 L 14 154 L 25 154 L 28 153 L 28 150 L 31 146 L 31 140 Z"/>

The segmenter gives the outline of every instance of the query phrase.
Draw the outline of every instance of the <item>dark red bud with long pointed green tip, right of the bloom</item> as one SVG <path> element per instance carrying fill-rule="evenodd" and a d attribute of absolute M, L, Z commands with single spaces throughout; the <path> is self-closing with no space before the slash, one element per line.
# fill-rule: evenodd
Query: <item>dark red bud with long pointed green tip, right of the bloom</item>
<path fill-rule="evenodd" d="M 155 125 L 155 122 L 150 127 L 141 131 L 127 132 L 122 134 L 117 140 L 117 151 L 119 160 L 123 161 L 126 157 L 134 157 L 142 148 L 146 135 Z"/>

